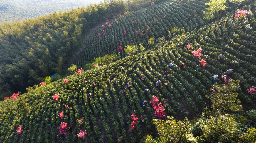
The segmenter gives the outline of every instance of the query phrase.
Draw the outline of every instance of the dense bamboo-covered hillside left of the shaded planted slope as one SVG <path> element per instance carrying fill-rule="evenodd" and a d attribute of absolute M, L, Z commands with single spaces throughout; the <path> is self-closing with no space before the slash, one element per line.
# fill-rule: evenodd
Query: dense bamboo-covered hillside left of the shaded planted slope
<path fill-rule="evenodd" d="M 160 2 L 160 1 L 158 1 Z M 134 4 L 134 5 L 133 5 Z M 136 4 L 136 5 L 135 5 Z M 106 19 L 150 5 L 150 1 L 104 1 L 67 12 L 0 25 L 0 95 L 26 91 L 44 77 L 67 69 L 83 36 Z"/>

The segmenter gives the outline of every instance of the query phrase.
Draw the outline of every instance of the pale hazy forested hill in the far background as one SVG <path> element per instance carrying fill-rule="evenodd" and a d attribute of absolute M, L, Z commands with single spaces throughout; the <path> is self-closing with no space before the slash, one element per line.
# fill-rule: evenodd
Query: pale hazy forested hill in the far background
<path fill-rule="evenodd" d="M 36 18 L 94 3 L 100 3 L 100 0 L 0 0 L 0 23 Z"/>

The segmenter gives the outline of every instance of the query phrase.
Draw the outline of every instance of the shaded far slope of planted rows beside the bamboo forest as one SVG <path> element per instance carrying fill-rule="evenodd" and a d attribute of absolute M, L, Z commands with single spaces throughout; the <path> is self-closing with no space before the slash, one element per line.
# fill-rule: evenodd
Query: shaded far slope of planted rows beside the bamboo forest
<path fill-rule="evenodd" d="M 200 8 L 200 10 L 199 10 Z M 108 53 L 117 53 L 121 45 L 133 43 L 144 45 L 145 50 L 148 40 L 153 37 L 168 36 L 168 30 L 172 27 L 184 27 L 186 31 L 193 30 L 205 22 L 198 15 L 205 9 L 205 2 L 201 1 L 166 1 L 153 5 L 134 13 L 122 15 L 119 18 L 103 23 L 102 26 L 92 28 L 92 32 L 86 36 L 85 44 L 75 59 L 75 64 L 84 67 L 96 57 Z M 121 58 L 126 57 L 121 51 Z"/>

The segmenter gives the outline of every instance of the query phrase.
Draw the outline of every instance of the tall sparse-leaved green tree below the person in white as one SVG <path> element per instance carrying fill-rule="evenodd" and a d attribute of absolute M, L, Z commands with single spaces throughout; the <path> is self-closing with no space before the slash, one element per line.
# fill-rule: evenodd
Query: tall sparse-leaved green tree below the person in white
<path fill-rule="evenodd" d="M 206 108 L 206 112 L 210 116 L 216 117 L 216 122 L 220 115 L 225 114 L 226 111 L 235 111 L 238 112 L 243 110 L 243 107 L 239 105 L 241 101 L 236 99 L 238 96 L 239 80 L 236 81 L 231 79 L 227 85 L 223 84 L 219 86 L 214 84 L 213 89 L 215 92 L 211 96 L 207 96 L 211 100 L 210 106 Z"/>

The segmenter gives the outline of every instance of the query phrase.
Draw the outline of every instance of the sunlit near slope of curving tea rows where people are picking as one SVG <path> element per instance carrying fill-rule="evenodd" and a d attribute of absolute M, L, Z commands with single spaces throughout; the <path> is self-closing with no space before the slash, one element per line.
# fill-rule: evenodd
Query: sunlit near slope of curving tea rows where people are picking
<path fill-rule="evenodd" d="M 234 18 L 239 11 L 234 10 L 197 31 L 159 41 L 143 53 L 65 77 L 69 80 L 67 84 L 63 78 L 20 95 L 17 100 L 0 101 L 0 142 L 57 142 L 61 122 L 72 127 L 72 132 L 61 135 L 61 142 L 117 142 L 120 136 L 125 139 L 123 142 L 141 142 L 147 134 L 157 136 L 151 123 L 152 118 L 156 118 L 152 104 L 143 107 L 142 101 L 152 100 L 155 94 L 160 101 L 167 101 L 168 116 L 191 120 L 202 114 L 203 107 L 209 103 L 205 95 L 210 94 L 212 75 L 217 72 L 217 83 L 222 84 L 221 76 L 228 69 L 234 69 L 229 78 L 240 80 L 238 97 L 243 109 L 255 109 L 255 96 L 245 91 L 256 81 L 255 3 L 241 9 L 249 11 L 242 20 Z M 186 48 L 188 43 L 190 50 Z M 191 52 L 199 47 L 203 55 L 195 58 Z M 224 56 L 218 61 L 220 53 Z M 203 58 L 207 62 L 205 67 L 200 66 Z M 174 65 L 172 68 L 168 66 L 170 62 Z M 179 68 L 181 63 L 185 63 L 185 70 Z M 162 76 L 164 71 L 168 71 L 167 77 Z M 158 80 L 162 84 L 157 87 Z M 127 83 L 131 86 L 127 87 Z M 167 88 L 163 83 L 167 83 Z M 150 92 L 144 94 L 146 88 Z M 125 94 L 121 93 L 123 89 Z M 92 93 L 90 99 L 89 93 Z M 59 95 L 57 101 L 52 98 L 54 94 Z M 61 111 L 63 119 L 59 116 Z M 133 113 L 138 117 L 144 114 L 145 122 L 130 130 Z M 76 120 L 81 117 L 84 122 L 79 126 Z M 22 134 L 15 131 L 20 125 Z M 86 130 L 86 140 L 78 138 L 80 130 Z"/>

